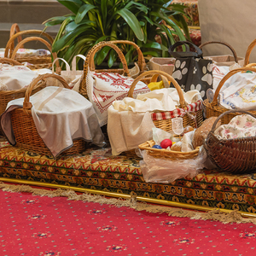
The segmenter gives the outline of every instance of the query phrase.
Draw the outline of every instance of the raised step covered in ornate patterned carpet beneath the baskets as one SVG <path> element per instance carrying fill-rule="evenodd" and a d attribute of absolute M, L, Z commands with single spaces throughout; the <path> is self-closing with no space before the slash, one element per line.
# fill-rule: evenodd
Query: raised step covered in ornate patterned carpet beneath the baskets
<path fill-rule="evenodd" d="M 59 160 L 0 143 L 0 176 L 66 184 L 137 195 L 196 206 L 256 212 L 256 175 L 234 176 L 218 171 L 170 184 L 145 183 L 134 155 L 110 156 L 109 148 L 87 149 L 83 155 Z"/>

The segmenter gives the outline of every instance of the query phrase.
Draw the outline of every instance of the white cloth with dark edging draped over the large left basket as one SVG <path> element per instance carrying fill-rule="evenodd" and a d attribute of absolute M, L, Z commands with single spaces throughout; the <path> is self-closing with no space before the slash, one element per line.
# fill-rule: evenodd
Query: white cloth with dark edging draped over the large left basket
<path fill-rule="evenodd" d="M 23 102 L 24 98 L 9 102 L 1 116 L 1 127 L 12 145 L 15 145 L 15 135 L 11 129 L 10 111 L 22 108 Z M 31 96 L 30 102 L 38 134 L 54 157 L 70 148 L 74 139 L 104 145 L 92 104 L 76 91 L 49 86 Z"/>

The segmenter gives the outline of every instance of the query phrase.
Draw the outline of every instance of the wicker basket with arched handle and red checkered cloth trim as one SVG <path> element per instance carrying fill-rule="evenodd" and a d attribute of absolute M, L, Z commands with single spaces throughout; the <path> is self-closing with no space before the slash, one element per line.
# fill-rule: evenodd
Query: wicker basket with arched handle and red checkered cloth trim
<path fill-rule="evenodd" d="M 136 84 L 141 81 L 141 79 L 143 79 L 145 76 L 151 76 L 152 78 L 155 78 L 154 74 L 158 74 L 160 76 L 166 77 L 166 79 L 168 81 L 171 81 L 172 84 L 175 86 L 176 90 L 177 90 L 177 94 L 179 96 L 179 106 L 178 108 L 183 108 L 183 109 L 187 109 L 186 106 L 188 105 L 187 102 L 185 102 L 184 96 L 183 96 L 183 91 L 181 90 L 180 86 L 177 84 L 176 80 L 172 78 L 171 75 L 169 75 L 168 73 L 165 73 L 163 71 L 160 70 L 149 70 L 146 71 L 142 74 L 140 74 L 137 79 L 134 79 L 134 82 L 131 84 L 131 88 L 128 92 L 128 96 L 132 97 L 133 96 L 133 91 L 135 89 Z M 196 111 L 193 116 L 194 118 L 191 118 L 192 113 L 189 114 L 185 114 L 183 116 L 183 126 L 186 127 L 187 125 L 190 125 L 194 128 L 197 128 L 201 125 L 202 121 L 203 121 L 203 113 L 202 113 L 202 109 Z M 157 128 L 160 128 L 162 130 L 165 131 L 172 131 L 172 119 L 162 119 L 162 120 L 154 120 L 154 125 Z"/>

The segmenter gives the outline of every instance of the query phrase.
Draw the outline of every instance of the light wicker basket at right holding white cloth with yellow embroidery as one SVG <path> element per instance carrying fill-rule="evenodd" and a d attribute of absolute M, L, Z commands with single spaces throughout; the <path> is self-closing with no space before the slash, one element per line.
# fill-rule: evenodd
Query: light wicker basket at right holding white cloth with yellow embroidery
<path fill-rule="evenodd" d="M 218 87 L 215 90 L 212 102 L 209 102 L 208 100 L 205 100 L 203 102 L 204 107 L 205 107 L 205 113 L 206 113 L 207 119 L 212 117 L 212 116 L 217 116 L 218 117 L 220 114 L 222 114 L 222 113 L 224 113 L 224 112 L 229 110 L 227 108 L 223 108 L 222 106 L 218 106 L 218 94 L 219 94 L 219 91 L 221 90 L 221 88 L 224 85 L 225 81 L 230 79 L 230 77 L 232 75 L 234 75 L 235 73 L 246 72 L 246 71 L 256 72 L 256 69 L 253 68 L 253 67 L 241 67 L 241 68 L 233 69 L 232 71 L 227 73 L 224 76 L 224 78 L 219 82 Z M 249 112 L 253 113 L 253 114 L 256 114 L 256 111 L 249 111 Z M 223 115 L 222 119 L 221 119 L 221 124 L 229 124 L 230 123 L 230 119 L 235 117 L 237 114 L 239 114 L 239 113 L 235 111 L 235 112 L 229 112 L 229 114 Z"/>

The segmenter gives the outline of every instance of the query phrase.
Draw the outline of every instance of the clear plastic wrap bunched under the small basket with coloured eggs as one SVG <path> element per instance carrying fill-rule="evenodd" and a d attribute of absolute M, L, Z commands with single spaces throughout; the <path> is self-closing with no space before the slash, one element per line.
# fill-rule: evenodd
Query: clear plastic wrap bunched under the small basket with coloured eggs
<path fill-rule="evenodd" d="M 143 160 L 140 167 L 146 183 L 172 183 L 178 178 L 195 177 L 205 167 L 207 153 L 203 147 L 194 159 L 167 160 L 155 158 L 147 154 L 146 150 L 141 152 Z"/>

